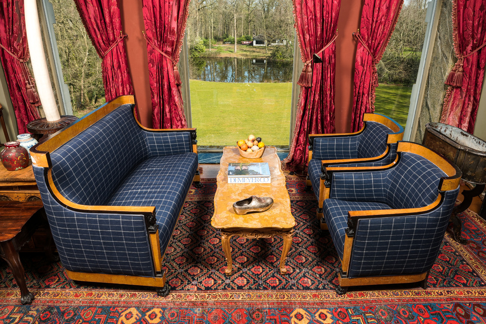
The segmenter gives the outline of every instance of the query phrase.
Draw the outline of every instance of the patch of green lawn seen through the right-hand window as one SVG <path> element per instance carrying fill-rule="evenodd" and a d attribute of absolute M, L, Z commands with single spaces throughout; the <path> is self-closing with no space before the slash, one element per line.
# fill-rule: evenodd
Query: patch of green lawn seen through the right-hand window
<path fill-rule="evenodd" d="M 411 86 L 380 84 L 376 88 L 375 112 L 394 119 L 405 128 L 411 95 Z"/>

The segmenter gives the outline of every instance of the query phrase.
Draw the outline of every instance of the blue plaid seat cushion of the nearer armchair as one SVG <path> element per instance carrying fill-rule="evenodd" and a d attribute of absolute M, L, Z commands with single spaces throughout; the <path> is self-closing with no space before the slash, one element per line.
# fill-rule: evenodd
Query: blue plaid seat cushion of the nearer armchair
<path fill-rule="evenodd" d="M 325 199 L 322 209 L 338 256 L 343 259 L 344 240 L 347 229 L 347 212 L 351 210 L 391 209 L 391 207 L 382 203 Z"/>

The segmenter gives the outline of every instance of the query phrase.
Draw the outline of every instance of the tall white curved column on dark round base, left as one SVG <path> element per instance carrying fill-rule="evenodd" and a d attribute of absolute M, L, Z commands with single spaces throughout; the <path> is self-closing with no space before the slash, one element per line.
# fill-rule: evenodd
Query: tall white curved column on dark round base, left
<path fill-rule="evenodd" d="M 42 108 L 46 114 L 47 121 L 61 119 L 57 110 L 54 92 L 52 91 L 49 70 L 47 69 L 42 35 L 40 34 L 39 16 L 37 15 L 36 0 L 24 0 L 25 30 L 27 32 L 27 43 L 29 44 L 32 70 L 34 72 L 35 85 L 39 94 Z"/>

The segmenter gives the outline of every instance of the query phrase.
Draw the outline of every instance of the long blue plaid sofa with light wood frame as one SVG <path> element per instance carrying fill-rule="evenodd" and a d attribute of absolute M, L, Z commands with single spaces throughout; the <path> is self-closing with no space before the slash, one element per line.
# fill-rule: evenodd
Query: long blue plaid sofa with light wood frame
<path fill-rule="evenodd" d="M 73 280 L 169 293 L 162 260 L 193 181 L 195 129 L 154 130 L 122 96 L 31 149 L 57 250 Z"/>

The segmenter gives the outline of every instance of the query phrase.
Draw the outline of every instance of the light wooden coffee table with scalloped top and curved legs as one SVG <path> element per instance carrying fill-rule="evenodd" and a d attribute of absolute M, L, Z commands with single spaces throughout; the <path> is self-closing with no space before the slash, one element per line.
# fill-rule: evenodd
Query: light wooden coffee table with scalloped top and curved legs
<path fill-rule="evenodd" d="M 270 184 L 228 184 L 228 163 L 267 162 L 270 168 Z M 221 244 L 225 252 L 226 274 L 231 274 L 230 239 L 241 236 L 247 239 L 264 239 L 281 236 L 283 238 L 280 273 L 287 273 L 285 260 L 292 246 L 295 218 L 290 209 L 290 197 L 285 187 L 285 175 L 280 167 L 277 148 L 267 146 L 260 158 L 249 159 L 240 155 L 236 146 L 223 149 L 220 171 L 217 177 L 218 189 L 214 195 L 214 215 L 211 225 L 221 231 Z M 274 204 L 270 209 L 260 213 L 237 215 L 233 203 L 252 195 L 272 197 Z"/>

